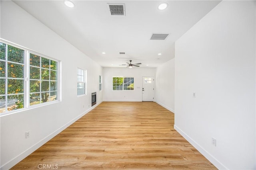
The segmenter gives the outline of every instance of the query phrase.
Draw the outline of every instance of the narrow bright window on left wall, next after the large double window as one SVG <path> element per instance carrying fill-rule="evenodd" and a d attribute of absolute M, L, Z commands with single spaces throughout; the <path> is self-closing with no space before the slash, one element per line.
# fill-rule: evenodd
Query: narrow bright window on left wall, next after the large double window
<path fill-rule="evenodd" d="M 86 70 L 77 68 L 77 95 L 86 95 Z"/>

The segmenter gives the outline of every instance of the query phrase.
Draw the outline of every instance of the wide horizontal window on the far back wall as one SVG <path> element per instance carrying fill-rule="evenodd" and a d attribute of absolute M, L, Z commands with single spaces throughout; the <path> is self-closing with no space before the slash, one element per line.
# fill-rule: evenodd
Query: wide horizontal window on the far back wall
<path fill-rule="evenodd" d="M 113 90 L 134 90 L 133 77 L 113 77 Z"/>

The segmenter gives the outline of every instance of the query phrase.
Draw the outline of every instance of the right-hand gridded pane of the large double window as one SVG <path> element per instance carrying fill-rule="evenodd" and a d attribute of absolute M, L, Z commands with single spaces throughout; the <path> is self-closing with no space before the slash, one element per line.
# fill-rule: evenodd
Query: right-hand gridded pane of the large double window
<path fill-rule="evenodd" d="M 30 53 L 30 105 L 58 99 L 58 64 Z"/>

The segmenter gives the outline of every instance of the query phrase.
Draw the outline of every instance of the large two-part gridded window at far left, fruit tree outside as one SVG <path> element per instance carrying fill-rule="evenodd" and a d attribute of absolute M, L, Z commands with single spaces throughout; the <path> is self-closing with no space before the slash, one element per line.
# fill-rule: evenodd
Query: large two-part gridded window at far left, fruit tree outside
<path fill-rule="evenodd" d="M 0 113 L 57 100 L 57 68 L 57 61 L 0 42 Z"/>

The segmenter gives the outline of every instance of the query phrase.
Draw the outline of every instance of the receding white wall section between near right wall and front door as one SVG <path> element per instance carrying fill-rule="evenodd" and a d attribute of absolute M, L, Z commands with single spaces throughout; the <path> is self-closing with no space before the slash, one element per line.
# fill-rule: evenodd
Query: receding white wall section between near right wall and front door
<path fill-rule="evenodd" d="M 156 68 L 155 102 L 174 112 L 175 59 Z"/>

